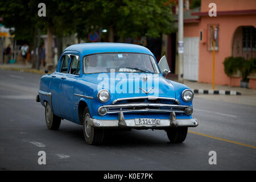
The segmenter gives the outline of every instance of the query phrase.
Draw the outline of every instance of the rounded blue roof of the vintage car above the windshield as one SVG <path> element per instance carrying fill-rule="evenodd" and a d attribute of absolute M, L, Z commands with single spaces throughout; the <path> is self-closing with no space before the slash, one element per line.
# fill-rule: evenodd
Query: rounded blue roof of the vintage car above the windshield
<path fill-rule="evenodd" d="M 63 53 L 68 51 L 78 51 L 82 56 L 105 52 L 135 52 L 153 55 L 146 47 L 125 43 L 81 43 L 67 47 Z"/>

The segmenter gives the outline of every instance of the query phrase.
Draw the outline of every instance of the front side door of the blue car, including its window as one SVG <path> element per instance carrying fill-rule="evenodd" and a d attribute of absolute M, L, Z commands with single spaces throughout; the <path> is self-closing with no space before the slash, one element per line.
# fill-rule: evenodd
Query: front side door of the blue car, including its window
<path fill-rule="evenodd" d="M 60 100 L 63 101 L 63 104 L 60 105 L 60 111 L 64 118 L 73 121 L 73 115 L 76 111 L 76 103 L 73 101 L 73 86 L 80 75 L 80 59 L 77 55 L 70 55 L 70 57 L 71 63 L 68 72 L 65 73 L 60 84 L 62 90 Z"/>

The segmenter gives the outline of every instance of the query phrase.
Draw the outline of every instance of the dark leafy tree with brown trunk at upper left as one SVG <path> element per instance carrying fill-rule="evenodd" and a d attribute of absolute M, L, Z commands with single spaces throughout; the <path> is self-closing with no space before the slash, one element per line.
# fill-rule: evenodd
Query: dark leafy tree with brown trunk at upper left
<path fill-rule="evenodd" d="M 36 46 L 38 28 L 47 33 L 47 68 L 53 67 L 52 43 L 53 35 L 63 36 L 72 34 L 72 15 L 69 16 L 69 8 L 63 8 L 69 1 L 64 0 L 61 6 L 57 0 L 44 1 L 46 4 L 46 17 L 38 16 L 39 0 L 9 0 L 0 1 L 0 16 L 6 27 L 14 27 L 15 39 L 25 40 Z M 68 24 L 69 23 L 69 24 Z M 39 39 L 40 40 L 40 39 Z"/>

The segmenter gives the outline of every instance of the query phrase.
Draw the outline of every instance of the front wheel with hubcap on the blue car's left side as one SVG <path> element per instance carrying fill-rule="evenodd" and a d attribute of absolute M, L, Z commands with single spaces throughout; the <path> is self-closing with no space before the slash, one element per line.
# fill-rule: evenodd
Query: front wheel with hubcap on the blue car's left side
<path fill-rule="evenodd" d="M 95 129 L 90 126 L 90 112 L 88 107 L 85 107 L 84 117 L 82 120 L 82 129 L 84 130 L 84 138 L 87 144 L 100 145 L 103 142 L 104 130 Z"/>

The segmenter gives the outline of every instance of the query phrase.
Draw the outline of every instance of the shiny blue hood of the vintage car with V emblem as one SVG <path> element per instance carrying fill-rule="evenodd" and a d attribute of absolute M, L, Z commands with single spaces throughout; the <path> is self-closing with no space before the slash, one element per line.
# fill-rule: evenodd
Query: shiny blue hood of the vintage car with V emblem
<path fill-rule="evenodd" d="M 112 99 L 141 96 L 176 98 L 171 82 L 157 73 L 93 73 L 85 75 L 84 79 L 97 85 L 97 90 L 109 90 L 114 96 Z"/>

